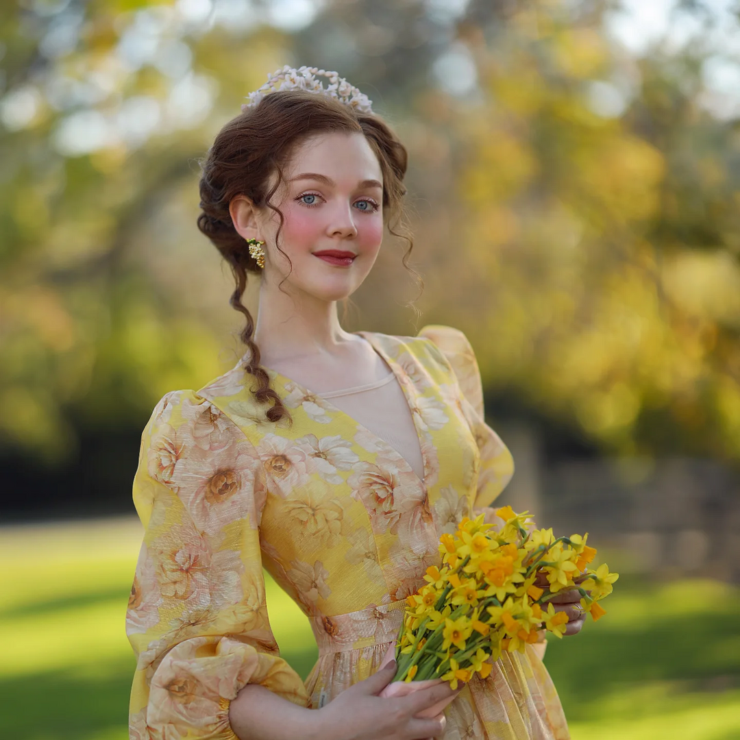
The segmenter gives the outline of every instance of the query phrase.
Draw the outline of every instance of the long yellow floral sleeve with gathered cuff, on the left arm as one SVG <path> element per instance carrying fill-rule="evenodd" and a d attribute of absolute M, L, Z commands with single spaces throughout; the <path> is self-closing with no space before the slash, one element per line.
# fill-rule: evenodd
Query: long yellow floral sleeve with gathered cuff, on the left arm
<path fill-rule="evenodd" d="M 127 613 L 131 740 L 234 739 L 229 702 L 250 682 L 308 706 L 269 626 L 266 485 L 240 429 L 192 391 L 167 394 L 142 435 L 133 497 L 145 534 Z"/>

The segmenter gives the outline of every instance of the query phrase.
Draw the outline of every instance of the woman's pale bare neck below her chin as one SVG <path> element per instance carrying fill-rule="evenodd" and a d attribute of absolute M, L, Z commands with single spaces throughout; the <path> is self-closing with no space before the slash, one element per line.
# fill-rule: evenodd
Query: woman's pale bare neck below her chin
<path fill-rule="evenodd" d="M 335 300 L 319 300 L 263 277 L 255 342 L 264 367 L 284 360 L 335 354 L 352 337 L 340 326 Z"/>

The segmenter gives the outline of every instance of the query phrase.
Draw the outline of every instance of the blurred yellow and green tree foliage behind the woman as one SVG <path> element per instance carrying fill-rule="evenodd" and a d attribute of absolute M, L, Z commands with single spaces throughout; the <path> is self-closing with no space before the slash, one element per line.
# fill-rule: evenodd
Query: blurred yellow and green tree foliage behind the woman
<path fill-rule="evenodd" d="M 738 459 L 740 139 L 707 105 L 717 50 L 696 33 L 630 54 L 612 6 L 4 4 L 4 460 L 75 471 L 80 440 L 109 440 L 121 496 L 158 397 L 235 362 L 197 161 L 286 63 L 340 70 L 408 144 L 424 321 L 470 335 L 490 391 L 613 451 Z M 356 303 L 409 333 L 399 260 Z"/>

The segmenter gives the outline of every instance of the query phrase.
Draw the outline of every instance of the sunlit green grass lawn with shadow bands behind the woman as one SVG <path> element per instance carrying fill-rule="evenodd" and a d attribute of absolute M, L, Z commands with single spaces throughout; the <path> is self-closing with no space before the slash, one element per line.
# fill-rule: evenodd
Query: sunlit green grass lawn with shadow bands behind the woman
<path fill-rule="evenodd" d="M 127 738 L 124 612 L 140 539 L 135 519 L 0 531 L 0 738 Z M 306 676 L 308 622 L 266 588 L 283 656 Z M 548 646 L 573 740 L 740 739 L 740 589 L 623 577 L 605 606 Z"/>

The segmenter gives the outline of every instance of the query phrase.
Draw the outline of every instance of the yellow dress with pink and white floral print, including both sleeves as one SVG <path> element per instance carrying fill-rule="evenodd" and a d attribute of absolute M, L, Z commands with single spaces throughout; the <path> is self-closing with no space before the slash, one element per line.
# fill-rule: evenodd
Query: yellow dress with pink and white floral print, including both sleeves
<path fill-rule="evenodd" d="M 127 613 L 138 656 L 132 740 L 234 740 L 229 701 L 249 682 L 317 708 L 366 679 L 404 599 L 439 564 L 440 534 L 511 478 L 461 332 L 360 335 L 403 389 L 423 480 L 380 437 L 275 371 L 292 424 L 265 420 L 239 365 L 197 393 L 167 394 L 152 413 L 134 481 L 146 534 Z M 263 566 L 314 630 L 319 658 L 305 684 L 279 656 Z M 569 737 L 532 645 L 505 653 L 445 713 L 445 740 Z"/>

